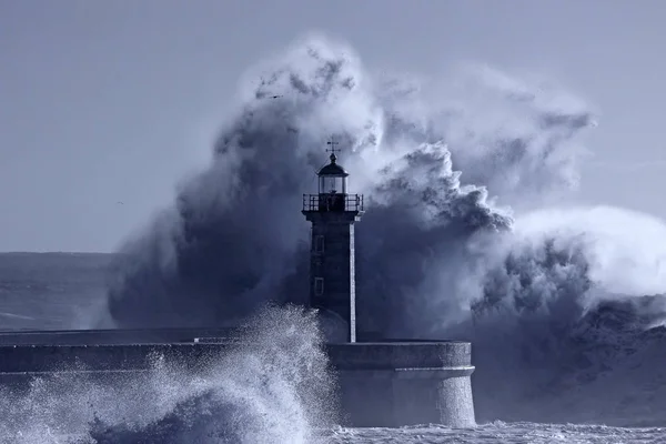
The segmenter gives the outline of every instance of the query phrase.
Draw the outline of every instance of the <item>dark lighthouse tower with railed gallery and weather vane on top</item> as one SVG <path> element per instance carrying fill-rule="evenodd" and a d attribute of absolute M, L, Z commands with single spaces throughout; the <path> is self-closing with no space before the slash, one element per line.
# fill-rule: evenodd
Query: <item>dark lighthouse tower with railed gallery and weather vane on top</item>
<path fill-rule="evenodd" d="M 356 342 L 354 222 L 363 214 L 363 195 L 347 193 L 347 172 L 331 162 L 319 172 L 316 194 L 303 194 L 303 214 L 312 222 L 310 305 L 320 311 L 330 342 Z"/>

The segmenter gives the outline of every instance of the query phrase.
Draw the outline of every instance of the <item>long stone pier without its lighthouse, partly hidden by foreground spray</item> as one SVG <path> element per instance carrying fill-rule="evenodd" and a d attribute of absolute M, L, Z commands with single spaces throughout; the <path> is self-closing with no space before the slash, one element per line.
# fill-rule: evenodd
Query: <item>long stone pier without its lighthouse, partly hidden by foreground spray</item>
<path fill-rule="evenodd" d="M 95 377 L 147 372 L 154 356 L 196 372 L 238 343 L 229 329 L 130 332 L 0 333 L 0 384 L 19 389 L 32 377 L 63 371 L 94 373 Z M 131 343 L 145 337 L 180 342 Z M 324 346 L 339 379 L 344 425 L 475 425 L 470 343 L 391 341 Z"/>

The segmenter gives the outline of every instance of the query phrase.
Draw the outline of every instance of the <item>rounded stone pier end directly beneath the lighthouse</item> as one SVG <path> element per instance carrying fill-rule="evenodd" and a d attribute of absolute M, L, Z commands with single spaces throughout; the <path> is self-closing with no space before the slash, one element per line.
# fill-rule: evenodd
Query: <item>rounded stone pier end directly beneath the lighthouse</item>
<path fill-rule="evenodd" d="M 476 425 L 468 342 L 327 344 L 344 425 Z"/>

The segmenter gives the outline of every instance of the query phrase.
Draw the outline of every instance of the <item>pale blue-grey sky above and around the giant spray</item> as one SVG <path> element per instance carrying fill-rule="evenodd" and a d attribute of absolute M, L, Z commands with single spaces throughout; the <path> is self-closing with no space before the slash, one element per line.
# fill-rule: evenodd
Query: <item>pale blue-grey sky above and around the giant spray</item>
<path fill-rule="evenodd" d="M 114 251 L 310 31 L 371 69 L 553 79 L 599 112 L 577 200 L 666 220 L 665 22 L 662 0 L 0 0 L 0 251 Z"/>

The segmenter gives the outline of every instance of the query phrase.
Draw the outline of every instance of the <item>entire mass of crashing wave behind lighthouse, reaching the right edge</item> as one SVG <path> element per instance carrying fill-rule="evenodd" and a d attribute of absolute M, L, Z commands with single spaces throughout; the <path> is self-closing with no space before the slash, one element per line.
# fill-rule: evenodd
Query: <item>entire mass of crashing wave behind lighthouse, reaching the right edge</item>
<path fill-rule="evenodd" d="M 473 340 L 482 421 L 538 413 L 525 396 L 554 400 L 553 381 L 602 362 L 589 351 L 608 341 L 589 332 L 613 304 L 654 311 L 649 323 L 632 321 L 636 331 L 659 325 L 664 304 L 638 296 L 666 292 L 664 224 L 566 204 L 588 154 L 582 135 L 596 125 L 575 95 L 486 65 L 430 82 L 380 78 L 321 37 L 299 40 L 246 84 L 209 168 L 121 249 L 108 297 L 115 324 L 208 326 L 269 300 L 305 301 L 301 195 L 335 137 L 350 189 L 366 202 L 360 330 Z M 638 337 L 614 332 L 623 344 Z M 557 402 L 556 413 L 576 412 Z"/>

